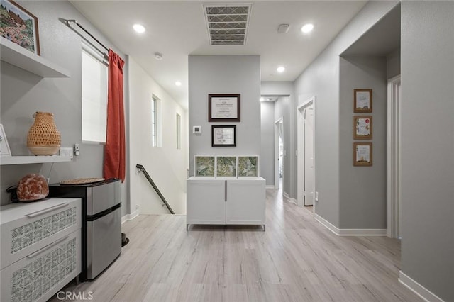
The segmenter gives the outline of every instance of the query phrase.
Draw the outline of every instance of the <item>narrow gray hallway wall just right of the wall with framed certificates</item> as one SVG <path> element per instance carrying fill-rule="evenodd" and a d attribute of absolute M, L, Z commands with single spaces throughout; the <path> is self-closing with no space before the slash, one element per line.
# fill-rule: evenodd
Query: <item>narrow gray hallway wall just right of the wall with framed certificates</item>
<path fill-rule="evenodd" d="M 260 103 L 260 176 L 267 186 L 275 184 L 275 102 Z"/>

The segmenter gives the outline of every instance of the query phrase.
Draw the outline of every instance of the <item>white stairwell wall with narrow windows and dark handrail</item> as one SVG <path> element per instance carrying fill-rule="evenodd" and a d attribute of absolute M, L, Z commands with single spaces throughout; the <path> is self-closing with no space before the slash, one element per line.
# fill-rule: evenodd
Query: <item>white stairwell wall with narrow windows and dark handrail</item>
<path fill-rule="evenodd" d="M 169 213 L 135 164 L 143 164 L 175 213 L 186 213 L 187 111 L 184 111 L 134 60 L 128 57 L 130 99 L 131 212 Z M 151 146 L 151 99 L 161 101 L 162 147 Z M 176 114 L 182 117 L 182 148 L 177 150 Z"/>

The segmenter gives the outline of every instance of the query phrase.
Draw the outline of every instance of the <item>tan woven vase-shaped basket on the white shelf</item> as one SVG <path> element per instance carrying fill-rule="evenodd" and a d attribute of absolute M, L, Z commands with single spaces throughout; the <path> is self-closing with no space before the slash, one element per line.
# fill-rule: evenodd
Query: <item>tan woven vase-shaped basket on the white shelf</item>
<path fill-rule="evenodd" d="M 28 130 L 27 147 L 34 155 L 54 155 L 60 150 L 61 135 L 49 112 L 33 114 L 35 123 Z"/>

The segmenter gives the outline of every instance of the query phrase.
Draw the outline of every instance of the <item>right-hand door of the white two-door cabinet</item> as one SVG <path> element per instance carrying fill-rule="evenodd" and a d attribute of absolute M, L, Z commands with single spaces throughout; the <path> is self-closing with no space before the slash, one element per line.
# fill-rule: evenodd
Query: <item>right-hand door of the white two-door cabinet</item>
<path fill-rule="evenodd" d="M 226 224 L 265 225 L 265 179 L 227 181 Z"/>

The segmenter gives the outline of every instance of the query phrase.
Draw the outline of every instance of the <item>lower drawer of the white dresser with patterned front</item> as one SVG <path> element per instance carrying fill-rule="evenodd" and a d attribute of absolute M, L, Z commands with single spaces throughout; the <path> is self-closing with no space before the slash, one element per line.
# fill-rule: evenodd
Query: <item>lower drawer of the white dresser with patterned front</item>
<path fill-rule="evenodd" d="M 1 270 L 1 301 L 47 301 L 81 272 L 80 230 Z"/>

